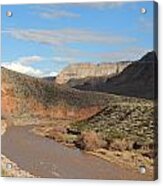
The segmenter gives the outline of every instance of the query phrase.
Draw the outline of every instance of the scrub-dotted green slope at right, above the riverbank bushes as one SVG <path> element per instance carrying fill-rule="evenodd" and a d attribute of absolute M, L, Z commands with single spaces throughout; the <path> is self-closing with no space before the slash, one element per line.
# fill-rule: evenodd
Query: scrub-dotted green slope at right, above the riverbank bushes
<path fill-rule="evenodd" d="M 119 102 L 109 104 L 89 119 L 72 124 L 72 128 L 80 132 L 95 131 L 108 142 L 107 148 L 110 149 L 151 149 L 157 125 L 155 112 L 152 101 Z M 123 143 L 124 139 L 126 143 Z M 114 144 L 118 140 L 121 146 Z"/>

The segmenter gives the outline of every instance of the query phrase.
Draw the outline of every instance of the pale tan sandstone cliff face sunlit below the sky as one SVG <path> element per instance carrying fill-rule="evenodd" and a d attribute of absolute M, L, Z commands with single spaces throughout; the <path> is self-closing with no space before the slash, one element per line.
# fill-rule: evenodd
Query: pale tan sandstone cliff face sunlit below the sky
<path fill-rule="evenodd" d="M 71 79 L 81 79 L 86 77 L 101 77 L 113 74 L 119 74 L 126 68 L 129 62 L 119 63 L 102 63 L 102 64 L 90 64 L 90 63 L 78 63 L 71 64 L 61 71 L 56 77 L 56 83 L 65 84 Z"/>

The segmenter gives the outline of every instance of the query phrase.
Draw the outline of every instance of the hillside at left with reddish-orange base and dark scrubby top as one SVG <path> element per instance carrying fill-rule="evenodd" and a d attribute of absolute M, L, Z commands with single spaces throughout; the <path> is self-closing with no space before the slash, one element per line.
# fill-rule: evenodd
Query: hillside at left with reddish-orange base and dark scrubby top
<path fill-rule="evenodd" d="M 85 118 L 99 111 L 107 96 L 1 69 L 3 118 Z M 10 119 L 12 121 L 12 119 Z"/>

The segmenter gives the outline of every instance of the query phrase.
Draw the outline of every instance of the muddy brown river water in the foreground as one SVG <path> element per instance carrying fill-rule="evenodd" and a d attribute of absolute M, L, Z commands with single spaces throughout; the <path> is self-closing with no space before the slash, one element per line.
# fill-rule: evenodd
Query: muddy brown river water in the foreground
<path fill-rule="evenodd" d="M 12 126 L 2 135 L 2 154 L 31 174 L 44 178 L 146 180 L 133 170 L 117 167 L 78 149 L 34 134 L 33 126 Z"/>

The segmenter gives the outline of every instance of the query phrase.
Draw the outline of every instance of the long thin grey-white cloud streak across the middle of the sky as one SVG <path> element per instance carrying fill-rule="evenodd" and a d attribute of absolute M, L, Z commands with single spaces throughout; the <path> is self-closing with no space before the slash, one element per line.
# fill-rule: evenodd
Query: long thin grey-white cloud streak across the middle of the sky
<path fill-rule="evenodd" d="M 34 41 L 53 46 L 64 46 L 71 43 L 84 44 L 125 44 L 136 42 L 136 38 L 96 32 L 86 29 L 60 29 L 60 30 L 35 30 L 35 29 L 10 29 L 5 32 L 16 39 Z"/>

